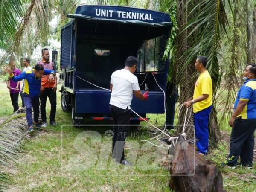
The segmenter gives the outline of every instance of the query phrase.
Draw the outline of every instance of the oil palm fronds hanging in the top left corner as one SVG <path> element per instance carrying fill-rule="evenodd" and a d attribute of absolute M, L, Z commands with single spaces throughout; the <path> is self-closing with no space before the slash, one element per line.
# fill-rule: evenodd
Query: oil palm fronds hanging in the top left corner
<path fill-rule="evenodd" d="M 13 52 L 18 55 L 25 55 L 24 53 L 30 55 L 38 44 L 46 42 L 49 38 L 51 34 L 49 22 L 53 14 L 60 15 L 62 21 L 66 19 L 67 13 L 73 12 L 79 2 L 80 0 L 3 0 L 0 7 L 7 5 L 10 7 L 7 7 L 7 10 L 19 8 L 17 12 L 19 14 L 9 16 L 11 14 L 8 15 L 7 11 L 0 12 L 0 17 L 9 23 L 0 32 L 0 48 L 6 50 L 6 56 Z M 14 27 L 9 29 L 11 26 Z M 26 47 L 26 50 L 23 47 Z"/>

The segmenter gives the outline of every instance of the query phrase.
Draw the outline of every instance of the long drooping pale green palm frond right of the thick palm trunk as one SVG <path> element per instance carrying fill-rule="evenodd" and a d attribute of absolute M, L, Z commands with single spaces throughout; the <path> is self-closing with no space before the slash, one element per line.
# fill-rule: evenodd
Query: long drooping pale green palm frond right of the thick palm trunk
<path fill-rule="evenodd" d="M 246 66 L 246 24 L 243 12 L 244 2 L 234 0 L 234 14 L 231 17 L 230 30 L 228 31 L 230 38 L 226 39 L 222 47 L 221 65 L 225 66 L 222 70 L 224 76 L 222 78 L 221 88 L 217 95 L 218 117 L 221 126 L 227 124 L 233 112 L 233 103 L 236 99 L 236 92 L 241 85 L 241 74 Z M 244 23 L 244 24 L 243 24 Z"/>

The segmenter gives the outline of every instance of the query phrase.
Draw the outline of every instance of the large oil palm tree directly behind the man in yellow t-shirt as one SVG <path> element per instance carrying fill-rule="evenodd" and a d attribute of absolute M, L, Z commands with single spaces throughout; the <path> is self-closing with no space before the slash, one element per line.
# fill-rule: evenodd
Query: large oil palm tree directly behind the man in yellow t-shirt
<path fill-rule="evenodd" d="M 193 96 L 197 72 L 194 67 L 198 55 L 208 58 L 207 69 L 212 77 L 213 105 L 220 85 L 221 73 L 218 56 L 221 48 L 221 37 L 226 33 L 227 15 L 222 0 L 178 0 L 177 23 L 179 32 L 176 39 L 177 61 L 175 71 L 176 82 L 180 86 L 180 103 L 186 102 Z M 185 109 L 181 110 L 185 114 Z M 184 117 L 179 119 L 180 124 Z M 189 119 L 193 125 L 193 117 Z M 193 128 L 188 128 L 186 133 L 193 134 Z M 220 139 L 215 107 L 211 113 L 209 138 L 212 144 Z"/>

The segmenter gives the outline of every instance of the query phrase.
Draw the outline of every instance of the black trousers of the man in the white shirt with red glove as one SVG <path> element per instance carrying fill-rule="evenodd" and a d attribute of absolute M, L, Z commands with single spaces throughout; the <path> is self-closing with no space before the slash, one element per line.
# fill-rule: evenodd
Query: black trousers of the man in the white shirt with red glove
<path fill-rule="evenodd" d="M 130 110 L 121 109 L 113 105 L 109 105 L 109 111 L 113 118 L 113 132 L 112 138 L 112 157 L 117 162 L 121 162 L 125 158 L 124 148 L 125 139 L 130 129 Z"/>

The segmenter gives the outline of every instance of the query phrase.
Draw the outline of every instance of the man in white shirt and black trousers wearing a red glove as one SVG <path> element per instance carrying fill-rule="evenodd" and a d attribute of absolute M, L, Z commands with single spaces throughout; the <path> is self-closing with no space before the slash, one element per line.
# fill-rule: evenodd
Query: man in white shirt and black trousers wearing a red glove
<path fill-rule="evenodd" d="M 130 128 L 130 105 L 132 95 L 140 100 L 148 99 L 148 91 L 141 93 L 138 79 L 133 74 L 137 69 L 138 60 L 129 56 L 125 61 L 125 68 L 112 73 L 110 81 L 111 98 L 109 110 L 113 118 L 112 157 L 118 163 L 131 165 L 125 160 L 125 139 Z"/>

